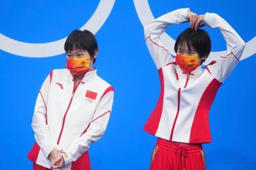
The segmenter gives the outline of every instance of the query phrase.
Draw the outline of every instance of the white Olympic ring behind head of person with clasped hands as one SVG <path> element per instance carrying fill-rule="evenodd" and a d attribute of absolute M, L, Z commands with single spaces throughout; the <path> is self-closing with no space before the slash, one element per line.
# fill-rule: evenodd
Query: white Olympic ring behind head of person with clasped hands
<path fill-rule="evenodd" d="M 100 0 L 92 17 L 81 27 L 81 29 L 90 29 L 93 34 L 99 31 L 100 27 L 102 27 L 107 20 L 114 4 L 115 0 Z M 67 37 L 49 43 L 24 43 L 8 38 L 0 33 L 0 39 L 0 49 L 5 52 L 23 57 L 52 57 L 65 53 L 63 45 Z M 19 48 L 17 48 L 17 46 L 19 46 Z"/>

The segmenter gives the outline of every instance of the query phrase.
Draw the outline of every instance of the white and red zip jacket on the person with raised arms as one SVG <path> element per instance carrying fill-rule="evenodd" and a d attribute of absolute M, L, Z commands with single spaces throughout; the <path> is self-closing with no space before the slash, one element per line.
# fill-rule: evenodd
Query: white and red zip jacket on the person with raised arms
<path fill-rule="evenodd" d="M 144 28 L 161 83 L 159 100 L 144 130 L 168 141 L 210 143 L 209 110 L 219 87 L 239 62 L 245 43 L 223 18 L 205 13 L 205 25 L 220 29 L 227 42 L 227 53 L 204 70 L 197 67 L 190 74 L 182 73 L 160 36 L 170 25 L 187 22 L 187 13 L 188 8 L 172 11 Z"/>

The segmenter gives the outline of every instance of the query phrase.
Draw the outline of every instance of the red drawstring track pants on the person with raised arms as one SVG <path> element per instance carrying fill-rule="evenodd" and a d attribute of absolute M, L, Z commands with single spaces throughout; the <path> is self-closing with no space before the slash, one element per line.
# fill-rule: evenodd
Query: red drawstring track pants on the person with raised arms
<path fill-rule="evenodd" d="M 152 153 L 150 170 L 205 170 L 201 144 L 176 143 L 158 138 Z"/>

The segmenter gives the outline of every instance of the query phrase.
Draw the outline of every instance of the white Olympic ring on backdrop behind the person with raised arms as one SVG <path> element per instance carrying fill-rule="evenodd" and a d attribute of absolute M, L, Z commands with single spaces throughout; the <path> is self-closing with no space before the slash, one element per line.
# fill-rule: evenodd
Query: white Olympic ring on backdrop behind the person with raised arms
<path fill-rule="evenodd" d="M 140 22 L 143 26 L 147 25 L 149 22 L 154 20 L 154 15 L 152 14 L 152 11 L 150 10 L 150 6 L 148 4 L 147 0 L 133 0 L 136 12 L 138 14 L 138 17 L 140 18 Z M 163 41 L 163 44 L 170 46 L 174 46 L 175 40 L 171 38 L 166 32 L 161 36 L 161 40 Z M 243 55 L 240 60 L 246 59 L 256 53 L 256 36 L 254 36 L 250 41 L 246 43 L 246 46 L 244 48 Z M 167 47 L 168 47 L 167 46 Z M 167 50 L 172 54 L 175 55 L 174 49 L 167 48 Z M 209 55 L 209 58 L 211 60 L 218 60 L 221 55 L 223 55 L 225 51 L 220 52 L 211 52 Z M 206 60 L 205 64 L 209 63 L 210 61 Z"/>

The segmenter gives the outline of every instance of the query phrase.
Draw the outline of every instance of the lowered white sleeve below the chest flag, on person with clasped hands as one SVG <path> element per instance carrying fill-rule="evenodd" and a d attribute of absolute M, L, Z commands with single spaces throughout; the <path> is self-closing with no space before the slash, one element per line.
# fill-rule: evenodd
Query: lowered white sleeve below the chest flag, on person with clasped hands
<path fill-rule="evenodd" d="M 111 115 L 113 97 L 114 92 L 110 91 L 100 99 L 86 131 L 65 150 L 65 154 L 62 154 L 66 166 L 81 157 L 92 143 L 98 141 L 103 136 Z"/>

